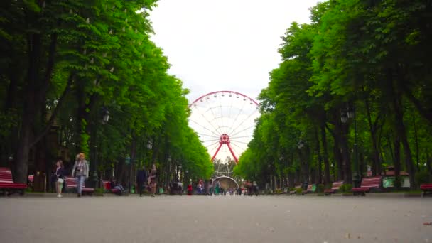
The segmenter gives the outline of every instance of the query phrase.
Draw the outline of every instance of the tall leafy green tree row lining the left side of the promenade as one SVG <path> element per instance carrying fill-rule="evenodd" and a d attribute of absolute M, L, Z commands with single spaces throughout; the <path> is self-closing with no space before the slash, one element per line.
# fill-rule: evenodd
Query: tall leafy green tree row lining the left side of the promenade
<path fill-rule="evenodd" d="M 37 171 L 53 165 L 53 129 L 71 160 L 87 154 L 92 174 L 115 168 L 124 181 L 131 161 L 156 163 L 163 183 L 210 177 L 188 126 L 188 90 L 149 38 L 155 2 L 1 1 L 1 163 L 13 158 L 18 183 L 29 160 Z"/>

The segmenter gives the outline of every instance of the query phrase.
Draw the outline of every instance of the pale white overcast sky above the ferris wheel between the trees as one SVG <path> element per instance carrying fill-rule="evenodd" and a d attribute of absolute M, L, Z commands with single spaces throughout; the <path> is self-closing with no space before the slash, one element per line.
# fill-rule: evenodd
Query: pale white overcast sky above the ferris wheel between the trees
<path fill-rule="evenodd" d="M 256 99 L 277 68 L 277 49 L 291 22 L 309 23 L 316 0 L 160 0 L 151 12 L 169 72 L 188 99 L 232 90 Z"/>

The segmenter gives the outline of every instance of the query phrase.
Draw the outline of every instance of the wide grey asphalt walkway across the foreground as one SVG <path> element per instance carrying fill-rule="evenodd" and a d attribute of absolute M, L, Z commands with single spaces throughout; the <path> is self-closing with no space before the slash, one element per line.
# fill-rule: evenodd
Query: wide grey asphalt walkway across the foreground
<path fill-rule="evenodd" d="M 431 198 L 0 198 L 0 242 L 432 242 Z"/>

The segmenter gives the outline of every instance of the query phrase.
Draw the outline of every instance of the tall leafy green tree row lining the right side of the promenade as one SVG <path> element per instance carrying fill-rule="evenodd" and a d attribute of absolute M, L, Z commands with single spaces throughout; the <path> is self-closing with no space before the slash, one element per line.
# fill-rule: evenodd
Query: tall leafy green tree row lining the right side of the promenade
<path fill-rule="evenodd" d="M 235 168 L 293 186 L 394 167 L 411 188 L 432 169 L 432 1 L 332 0 L 292 23 L 262 90 L 254 139 Z M 430 178 L 430 177 L 429 177 Z"/>

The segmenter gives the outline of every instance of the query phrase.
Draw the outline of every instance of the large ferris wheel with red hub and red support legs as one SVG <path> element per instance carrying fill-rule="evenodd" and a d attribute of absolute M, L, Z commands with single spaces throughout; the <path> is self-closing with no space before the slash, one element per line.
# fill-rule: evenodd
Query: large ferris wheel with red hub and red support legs
<path fill-rule="evenodd" d="M 216 91 L 195 99 L 189 108 L 189 126 L 200 136 L 212 161 L 234 159 L 237 163 L 252 139 L 259 104 L 239 92 Z"/>

